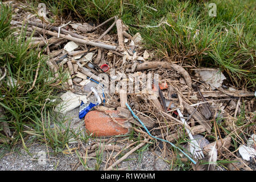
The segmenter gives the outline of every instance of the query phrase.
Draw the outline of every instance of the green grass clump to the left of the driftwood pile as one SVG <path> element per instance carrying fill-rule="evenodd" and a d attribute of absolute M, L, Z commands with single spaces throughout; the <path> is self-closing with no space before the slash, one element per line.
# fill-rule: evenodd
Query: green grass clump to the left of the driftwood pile
<path fill-rule="evenodd" d="M 23 140 L 26 141 L 34 135 L 34 139 L 47 142 L 55 152 L 59 152 L 72 136 L 69 126 L 64 125 L 65 120 L 53 112 L 57 103 L 49 101 L 57 98 L 59 89 L 50 86 L 56 79 L 51 80 L 54 76 L 49 71 L 43 52 L 29 48 L 30 41 L 27 41 L 26 30 L 10 29 L 11 14 L 9 7 L 1 6 L 0 67 L 6 68 L 6 77 L 0 86 L 0 107 L 5 111 L 4 117 L 0 118 L 0 138 L 9 140 L 9 143 L 1 146 L 10 149 L 22 141 L 26 150 Z M 32 88 L 38 66 L 38 77 Z M 60 73 L 60 77 L 63 75 L 64 72 Z M 11 137 L 3 134 L 3 122 L 8 123 Z M 53 128 L 50 123 L 54 125 Z"/>

